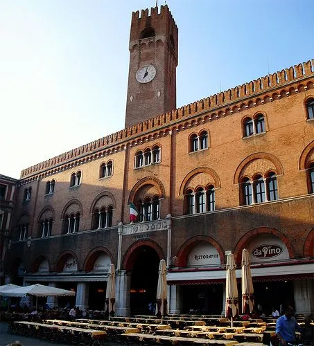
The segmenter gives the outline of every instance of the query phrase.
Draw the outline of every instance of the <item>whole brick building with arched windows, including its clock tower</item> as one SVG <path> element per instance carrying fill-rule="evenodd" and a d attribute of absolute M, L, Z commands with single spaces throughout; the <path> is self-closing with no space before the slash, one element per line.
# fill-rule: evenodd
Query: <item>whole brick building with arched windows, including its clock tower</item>
<path fill-rule="evenodd" d="M 247 248 L 256 302 L 313 313 L 314 60 L 173 109 L 176 66 L 168 7 L 133 13 L 125 129 L 21 172 L 6 275 L 101 309 L 114 263 L 128 316 L 165 259 L 171 313 L 221 313 Z"/>

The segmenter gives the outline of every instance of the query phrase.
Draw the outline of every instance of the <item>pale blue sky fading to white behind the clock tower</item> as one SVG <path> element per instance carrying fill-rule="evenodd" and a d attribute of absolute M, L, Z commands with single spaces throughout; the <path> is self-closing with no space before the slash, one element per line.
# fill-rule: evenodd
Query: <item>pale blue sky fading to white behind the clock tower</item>
<path fill-rule="evenodd" d="M 166 0 L 177 107 L 314 58 L 313 0 Z M 132 11 L 155 0 L 0 0 L 0 174 L 124 128 Z"/>

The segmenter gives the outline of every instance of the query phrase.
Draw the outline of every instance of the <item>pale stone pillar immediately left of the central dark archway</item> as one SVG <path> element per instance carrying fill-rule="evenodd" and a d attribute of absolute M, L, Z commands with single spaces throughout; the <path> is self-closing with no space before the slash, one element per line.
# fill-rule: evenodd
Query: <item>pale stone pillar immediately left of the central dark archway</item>
<path fill-rule="evenodd" d="M 130 316 L 131 275 L 116 271 L 116 316 Z"/>

